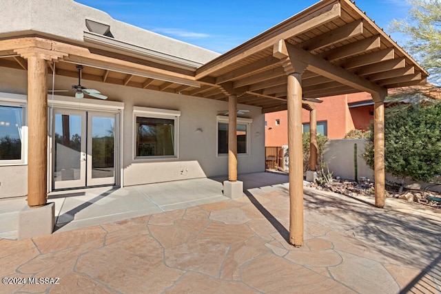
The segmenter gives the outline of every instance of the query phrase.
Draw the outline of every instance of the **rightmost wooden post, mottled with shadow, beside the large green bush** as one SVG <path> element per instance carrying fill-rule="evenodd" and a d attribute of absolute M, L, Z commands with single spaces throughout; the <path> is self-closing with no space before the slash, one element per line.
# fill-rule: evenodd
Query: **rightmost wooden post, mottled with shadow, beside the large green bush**
<path fill-rule="evenodd" d="M 384 101 L 375 101 L 373 112 L 373 145 L 375 173 L 375 205 L 384 207 Z"/>

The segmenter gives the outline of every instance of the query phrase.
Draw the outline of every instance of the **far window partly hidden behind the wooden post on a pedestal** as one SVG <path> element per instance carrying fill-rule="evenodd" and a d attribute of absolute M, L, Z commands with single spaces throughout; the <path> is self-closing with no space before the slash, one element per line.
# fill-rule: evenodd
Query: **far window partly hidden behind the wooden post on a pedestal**
<path fill-rule="evenodd" d="M 237 153 L 249 154 L 250 118 L 237 118 Z M 218 154 L 228 154 L 228 117 L 218 116 Z"/>

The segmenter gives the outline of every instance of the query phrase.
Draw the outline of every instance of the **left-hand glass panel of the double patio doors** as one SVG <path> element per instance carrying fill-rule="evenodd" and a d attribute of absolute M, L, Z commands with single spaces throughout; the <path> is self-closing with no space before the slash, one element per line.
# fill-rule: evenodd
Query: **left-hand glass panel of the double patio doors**
<path fill-rule="evenodd" d="M 85 187 L 85 112 L 54 112 L 54 189 Z"/>

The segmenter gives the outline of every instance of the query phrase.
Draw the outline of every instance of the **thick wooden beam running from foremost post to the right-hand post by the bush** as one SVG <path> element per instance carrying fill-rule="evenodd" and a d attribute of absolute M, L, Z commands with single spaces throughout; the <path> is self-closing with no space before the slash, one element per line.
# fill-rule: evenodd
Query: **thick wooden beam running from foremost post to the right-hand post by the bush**
<path fill-rule="evenodd" d="M 376 83 L 372 83 L 365 78 L 333 65 L 332 63 L 321 59 L 319 56 L 313 55 L 305 50 L 295 48 L 289 43 L 286 43 L 286 46 L 290 59 L 296 59 L 306 63 L 307 70 L 311 72 L 315 72 L 316 74 L 325 76 L 330 80 L 358 89 L 360 92 L 382 93 L 386 91 L 383 87 L 380 87 Z"/>

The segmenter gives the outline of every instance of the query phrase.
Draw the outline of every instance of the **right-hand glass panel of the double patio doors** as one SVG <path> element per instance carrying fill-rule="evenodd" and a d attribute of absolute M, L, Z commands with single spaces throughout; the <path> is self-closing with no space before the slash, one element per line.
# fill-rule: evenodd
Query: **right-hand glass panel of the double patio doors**
<path fill-rule="evenodd" d="M 115 183 L 116 114 L 88 112 L 88 186 Z"/>

